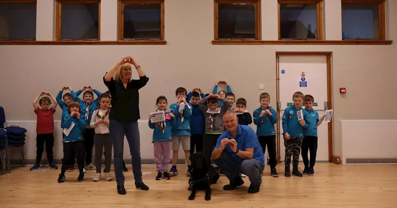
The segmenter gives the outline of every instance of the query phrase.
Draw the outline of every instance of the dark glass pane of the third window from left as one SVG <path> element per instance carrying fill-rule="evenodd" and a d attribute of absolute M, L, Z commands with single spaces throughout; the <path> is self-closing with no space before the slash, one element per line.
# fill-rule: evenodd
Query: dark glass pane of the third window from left
<path fill-rule="evenodd" d="M 124 40 L 161 39 L 161 4 L 124 4 Z"/>

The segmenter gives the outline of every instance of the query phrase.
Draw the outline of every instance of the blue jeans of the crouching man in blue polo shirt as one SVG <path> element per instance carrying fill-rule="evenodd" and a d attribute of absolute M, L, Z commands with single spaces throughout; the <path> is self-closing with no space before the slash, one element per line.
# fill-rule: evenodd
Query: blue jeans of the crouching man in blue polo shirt
<path fill-rule="evenodd" d="M 245 159 L 241 164 L 236 162 L 228 153 L 223 152 L 215 164 L 224 172 L 225 176 L 232 180 L 240 173 L 248 176 L 252 185 L 259 185 L 262 181 L 264 166 L 256 159 Z"/>

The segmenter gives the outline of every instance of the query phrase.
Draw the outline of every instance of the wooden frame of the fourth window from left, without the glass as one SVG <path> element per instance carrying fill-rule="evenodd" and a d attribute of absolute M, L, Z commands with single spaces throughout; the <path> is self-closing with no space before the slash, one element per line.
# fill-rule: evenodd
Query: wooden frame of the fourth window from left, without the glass
<path fill-rule="evenodd" d="M 218 38 L 218 4 L 255 4 L 255 40 L 262 40 L 261 34 L 261 9 L 260 9 L 260 1 L 261 0 L 214 0 L 214 40 L 219 40 Z M 243 40 L 243 41 L 252 41 L 245 40 L 241 38 L 231 39 L 233 40 Z M 221 41 L 230 41 L 230 40 L 221 40 Z"/>

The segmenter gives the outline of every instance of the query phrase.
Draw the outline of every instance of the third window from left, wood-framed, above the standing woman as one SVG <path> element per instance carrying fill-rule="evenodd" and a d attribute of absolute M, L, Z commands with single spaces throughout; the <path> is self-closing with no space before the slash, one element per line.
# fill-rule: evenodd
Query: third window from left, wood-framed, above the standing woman
<path fill-rule="evenodd" d="M 119 0 L 119 40 L 164 40 L 164 0 Z"/>

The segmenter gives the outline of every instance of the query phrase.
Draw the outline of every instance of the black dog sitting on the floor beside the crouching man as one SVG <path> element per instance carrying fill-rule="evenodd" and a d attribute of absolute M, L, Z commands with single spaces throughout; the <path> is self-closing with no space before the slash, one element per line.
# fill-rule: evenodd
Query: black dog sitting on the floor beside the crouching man
<path fill-rule="evenodd" d="M 189 157 L 192 162 L 192 171 L 189 178 L 189 191 L 192 191 L 189 200 L 196 197 L 197 190 L 205 190 L 205 200 L 211 199 L 211 184 L 216 183 L 219 174 L 211 166 L 211 160 L 204 153 L 194 153 Z"/>

